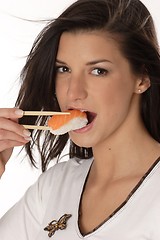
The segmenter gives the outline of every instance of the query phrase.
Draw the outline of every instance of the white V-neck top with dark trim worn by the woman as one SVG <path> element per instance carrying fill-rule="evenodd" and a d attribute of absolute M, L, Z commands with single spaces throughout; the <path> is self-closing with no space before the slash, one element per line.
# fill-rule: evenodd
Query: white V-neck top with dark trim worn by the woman
<path fill-rule="evenodd" d="M 110 218 L 82 236 L 78 209 L 91 163 L 71 159 L 42 174 L 0 220 L 0 240 L 160 240 L 160 159 Z M 72 215 L 66 228 L 49 238 L 44 228 L 64 214 Z"/>

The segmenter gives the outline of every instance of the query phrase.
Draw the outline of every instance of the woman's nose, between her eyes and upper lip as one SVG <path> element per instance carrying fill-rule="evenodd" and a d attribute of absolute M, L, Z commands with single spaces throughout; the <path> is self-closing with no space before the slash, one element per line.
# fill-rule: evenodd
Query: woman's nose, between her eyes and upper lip
<path fill-rule="evenodd" d="M 72 102 L 84 100 L 87 97 L 87 84 L 83 74 L 71 74 L 67 89 L 68 99 Z"/>

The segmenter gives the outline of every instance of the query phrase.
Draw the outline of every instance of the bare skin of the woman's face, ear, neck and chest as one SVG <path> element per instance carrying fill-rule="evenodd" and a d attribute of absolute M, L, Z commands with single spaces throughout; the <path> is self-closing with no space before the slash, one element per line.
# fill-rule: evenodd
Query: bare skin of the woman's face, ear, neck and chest
<path fill-rule="evenodd" d="M 148 76 L 136 76 L 106 33 L 64 33 L 57 54 L 56 93 L 62 110 L 84 109 L 96 119 L 70 132 L 79 146 L 92 147 L 94 162 L 80 203 L 79 228 L 86 234 L 126 199 L 160 156 L 140 117 Z M 139 91 L 140 90 L 140 91 Z"/>

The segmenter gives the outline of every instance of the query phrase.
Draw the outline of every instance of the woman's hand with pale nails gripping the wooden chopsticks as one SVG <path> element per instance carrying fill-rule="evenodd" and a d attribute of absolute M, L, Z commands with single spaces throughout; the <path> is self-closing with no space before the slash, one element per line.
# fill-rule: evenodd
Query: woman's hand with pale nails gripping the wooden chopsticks
<path fill-rule="evenodd" d="M 29 131 L 18 124 L 18 118 L 23 116 L 23 111 L 15 108 L 0 109 L 0 176 L 5 171 L 13 148 L 23 146 L 29 140 Z"/>

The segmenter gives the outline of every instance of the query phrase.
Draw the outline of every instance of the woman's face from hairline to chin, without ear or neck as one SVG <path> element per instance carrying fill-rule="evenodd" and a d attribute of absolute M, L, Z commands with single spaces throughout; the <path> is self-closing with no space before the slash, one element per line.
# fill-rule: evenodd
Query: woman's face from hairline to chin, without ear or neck
<path fill-rule="evenodd" d="M 130 115 L 138 104 L 135 92 L 139 79 L 116 41 L 106 33 L 63 33 L 56 68 L 61 110 L 85 110 L 90 116 L 85 128 L 69 133 L 77 145 L 95 147 L 134 121 Z"/>

